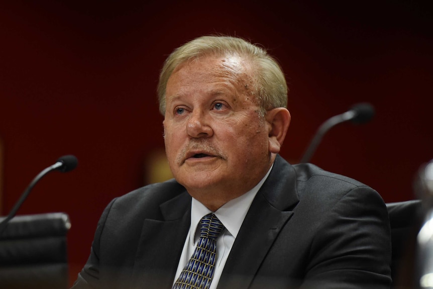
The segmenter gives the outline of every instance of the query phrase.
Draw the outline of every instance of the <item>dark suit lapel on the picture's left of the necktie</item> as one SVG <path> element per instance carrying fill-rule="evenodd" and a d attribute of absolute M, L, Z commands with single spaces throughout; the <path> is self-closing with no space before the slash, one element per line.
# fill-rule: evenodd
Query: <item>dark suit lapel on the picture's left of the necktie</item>
<path fill-rule="evenodd" d="M 160 206 L 162 220 L 144 220 L 133 288 L 171 288 L 190 226 L 190 204 L 191 198 L 185 191 Z"/>

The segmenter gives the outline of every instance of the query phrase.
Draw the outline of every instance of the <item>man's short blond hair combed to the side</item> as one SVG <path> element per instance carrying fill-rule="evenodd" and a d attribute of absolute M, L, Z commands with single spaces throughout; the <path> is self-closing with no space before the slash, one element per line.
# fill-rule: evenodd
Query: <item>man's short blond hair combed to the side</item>
<path fill-rule="evenodd" d="M 238 37 L 202 36 L 176 48 L 165 60 L 159 75 L 159 110 L 165 114 L 168 78 L 180 64 L 200 56 L 238 54 L 252 60 L 255 68 L 253 94 L 264 114 L 273 108 L 287 107 L 287 84 L 277 61 L 265 49 Z"/>

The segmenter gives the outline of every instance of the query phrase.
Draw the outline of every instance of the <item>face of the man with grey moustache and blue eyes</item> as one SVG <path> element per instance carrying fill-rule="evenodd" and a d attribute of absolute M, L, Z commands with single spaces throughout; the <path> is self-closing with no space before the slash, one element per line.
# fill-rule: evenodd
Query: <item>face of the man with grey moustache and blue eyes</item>
<path fill-rule="evenodd" d="M 250 75 L 250 64 L 239 56 L 206 56 L 180 65 L 168 79 L 168 161 L 199 201 L 245 194 L 271 165 L 271 128 L 259 116 Z"/>

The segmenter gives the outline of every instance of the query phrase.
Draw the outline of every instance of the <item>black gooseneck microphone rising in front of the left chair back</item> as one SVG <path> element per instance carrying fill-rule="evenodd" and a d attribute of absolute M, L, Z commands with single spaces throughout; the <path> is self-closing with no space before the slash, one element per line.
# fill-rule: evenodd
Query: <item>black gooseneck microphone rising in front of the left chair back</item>
<path fill-rule="evenodd" d="M 59 157 L 55 164 L 45 168 L 43 171 L 41 171 L 29 184 L 29 186 L 26 188 L 26 190 L 23 192 L 23 195 L 21 195 L 21 198 L 18 200 L 18 202 L 15 204 L 14 208 L 12 208 L 11 212 L 9 213 L 8 217 L 6 217 L 1 223 L 0 223 L 0 237 L 3 234 L 3 231 L 6 229 L 6 226 L 8 225 L 8 222 L 15 217 L 15 214 L 17 214 L 18 209 L 20 209 L 21 205 L 23 205 L 24 201 L 27 199 L 27 197 L 30 194 L 30 191 L 35 186 L 35 184 L 47 173 L 53 170 L 58 170 L 61 172 L 68 172 L 73 170 L 78 164 L 78 160 L 73 155 L 64 155 L 62 157 Z"/>

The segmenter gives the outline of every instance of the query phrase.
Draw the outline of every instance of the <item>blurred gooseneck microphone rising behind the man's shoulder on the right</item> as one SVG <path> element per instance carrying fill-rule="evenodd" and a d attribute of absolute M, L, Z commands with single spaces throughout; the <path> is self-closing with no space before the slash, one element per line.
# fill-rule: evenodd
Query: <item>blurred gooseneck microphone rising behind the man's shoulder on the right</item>
<path fill-rule="evenodd" d="M 360 103 L 354 105 L 349 111 L 328 119 L 318 128 L 300 162 L 308 162 L 310 160 L 323 135 L 326 134 L 331 128 L 348 121 L 351 121 L 354 124 L 367 123 L 373 118 L 374 113 L 375 111 L 372 105 L 368 103 Z"/>

